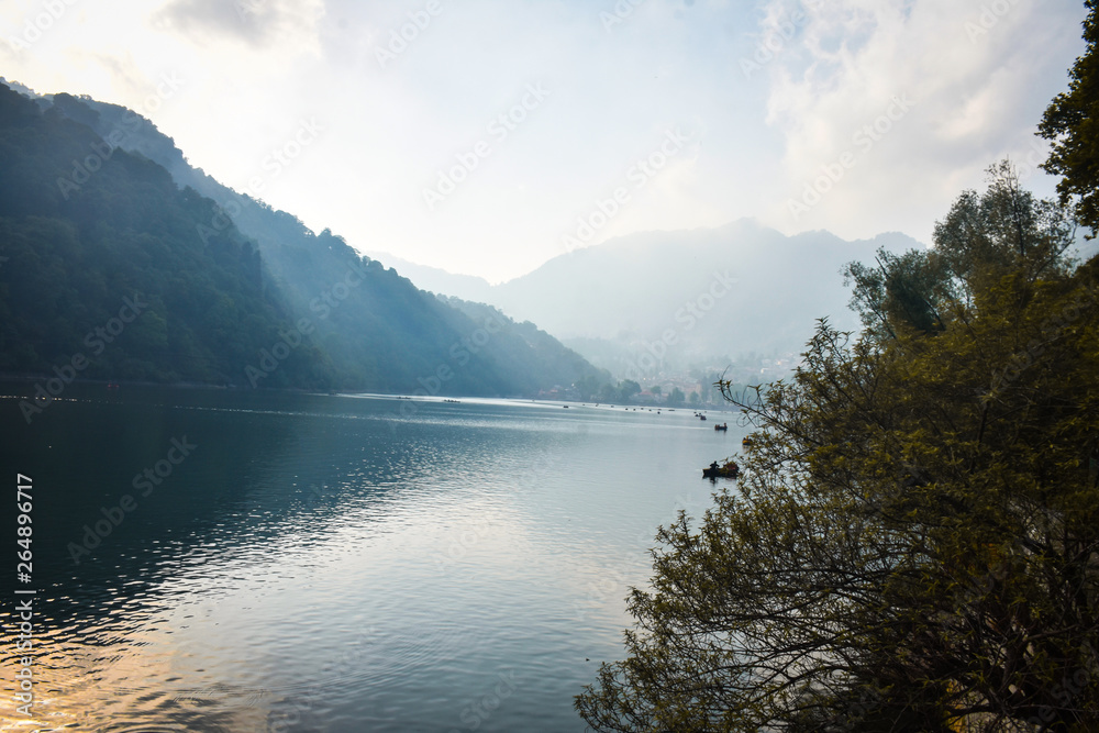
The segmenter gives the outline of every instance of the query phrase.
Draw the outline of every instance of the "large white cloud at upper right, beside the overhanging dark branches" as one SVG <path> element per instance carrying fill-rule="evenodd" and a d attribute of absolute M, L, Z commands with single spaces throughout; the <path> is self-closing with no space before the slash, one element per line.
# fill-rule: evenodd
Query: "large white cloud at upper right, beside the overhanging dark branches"
<path fill-rule="evenodd" d="M 926 238 L 987 166 L 1032 152 L 1048 90 L 1083 47 L 1084 10 L 1072 0 L 801 7 L 796 37 L 766 69 L 767 121 L 784 137 L 790 186 L 768 219 L 785 231 Z M 767 22 L 796 9 L 769 2 Z"/>

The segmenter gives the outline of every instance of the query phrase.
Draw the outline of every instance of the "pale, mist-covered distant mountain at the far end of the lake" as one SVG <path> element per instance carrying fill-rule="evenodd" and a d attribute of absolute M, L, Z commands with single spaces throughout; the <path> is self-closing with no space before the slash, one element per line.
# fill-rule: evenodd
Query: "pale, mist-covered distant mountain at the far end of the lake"
<path fill-rule="evenodd" d="M 636 378 L 798 354 L 819 318 L 856 330 L 843 266 L 872 260 L 879 247 L 923 246 L 897 233 L 857 242 L 823 231 L 786 236 L 741 220 L 619 237 L 497 286 L 376 256 L 422 288 L 531 320 L 593 364 Z"/>

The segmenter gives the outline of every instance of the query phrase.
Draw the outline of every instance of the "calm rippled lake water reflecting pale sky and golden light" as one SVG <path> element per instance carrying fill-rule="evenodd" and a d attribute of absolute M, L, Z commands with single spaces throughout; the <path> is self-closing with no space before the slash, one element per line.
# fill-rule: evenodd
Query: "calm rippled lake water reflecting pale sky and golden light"
<path fill-rule="evenodd" d="M 2 392 L 4 546 L 16 474 L 34 498 L 31 582 L 0 563 L 3 731 L 35 730 L 12 702 L 15 588 L 37 590 L 38 730 L 582 731 L 573 696 L 622 656 L 657 525 L 706 509 L 701 467 L 745 432 L 690 409 L 101 386 L 27 425 L 27 385 Z"/>

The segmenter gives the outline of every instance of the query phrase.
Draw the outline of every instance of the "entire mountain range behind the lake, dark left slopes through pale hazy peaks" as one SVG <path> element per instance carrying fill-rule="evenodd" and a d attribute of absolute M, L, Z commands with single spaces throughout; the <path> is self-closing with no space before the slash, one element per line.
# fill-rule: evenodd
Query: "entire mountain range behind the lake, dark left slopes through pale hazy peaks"
<path fill-rule="evenodd" d="M 123 107 L 19 91 L 0 84 L 8 374 L 49 374 L 86 351 L 140 289 L 146 314 L 81 376 L 493 396 L 658 381 L 797 355 L 817 319 L 857 330 L 844 265 L 924 246 L 745 219 L 618 237 L 490 285 L 362 257 L 193 168 Z"/>

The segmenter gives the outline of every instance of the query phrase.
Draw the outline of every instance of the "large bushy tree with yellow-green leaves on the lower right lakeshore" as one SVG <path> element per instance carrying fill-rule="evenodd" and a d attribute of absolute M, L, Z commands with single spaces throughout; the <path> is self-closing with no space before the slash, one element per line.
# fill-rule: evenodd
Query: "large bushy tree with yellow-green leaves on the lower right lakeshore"
<path fill-rule="evenodd" d="M 879 263 L 879 329 L 821 322 L 740 402 L 739 490 L 660 530 L 628 657 L 577 697 L 589 725 L 1094 730 L 1099 262 L 1070 269 L 1026 224 L 1045 204 L 1004 190 Z"/>

